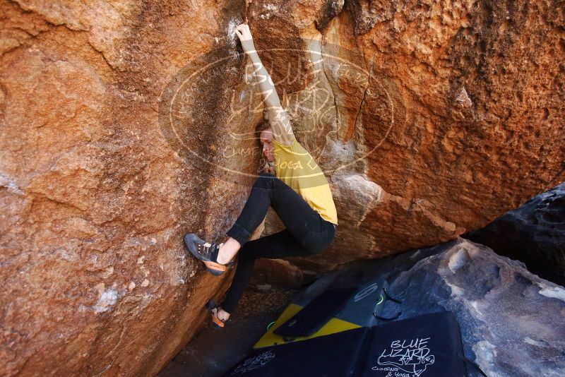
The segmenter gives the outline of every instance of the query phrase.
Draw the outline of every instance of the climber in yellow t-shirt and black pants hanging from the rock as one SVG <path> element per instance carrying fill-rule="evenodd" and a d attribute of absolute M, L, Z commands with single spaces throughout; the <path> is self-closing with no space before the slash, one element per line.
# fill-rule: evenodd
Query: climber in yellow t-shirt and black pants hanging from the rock
<path fill-rule="evenodd" d="M 257 258 L 311 256 L 331 243 L 338 216 L 326 176 L 292 133 L 290 121 L 268 72 L 255 50 L 246 24 L 235 29 L 244 52 L 251 58 L 263 101 L 268 111 L 269 127 L 259 134 L 263 155 L 274 162 L 276 176 L 263 173 L 256 179 L 242 213 L 227 231 L 220 244 L 206 242 L 196 234 L 186 234 L 189 251 L 204 262 L 210 273 L 222 275 L 232 266 L 239 251 L 237 269 L 227 296 L 221 305 L 208 301 L 213 322 L 223 327 L 249 283 Z M 261 224 L 269 207 L 283 221 L 286 229 L 248 241 Z"/>

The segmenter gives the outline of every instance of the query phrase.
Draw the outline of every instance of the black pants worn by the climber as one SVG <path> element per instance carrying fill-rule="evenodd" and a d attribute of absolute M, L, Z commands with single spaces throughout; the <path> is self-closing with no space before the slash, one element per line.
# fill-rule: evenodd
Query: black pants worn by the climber
<path fill-rule="evenodd" d="M 247 242 L 251 233 L 263 221 L 272 206 L 286 226 L 282 232 Z M 311 256 L 331 243 L 335 227 L 273 174 L 261 174 L 251 188 L 241 215 L 227 235 L 242 244 L 232 286 L 222 303 L 222 309 L 232 313 L 251 279 L 257 258 Z"/>

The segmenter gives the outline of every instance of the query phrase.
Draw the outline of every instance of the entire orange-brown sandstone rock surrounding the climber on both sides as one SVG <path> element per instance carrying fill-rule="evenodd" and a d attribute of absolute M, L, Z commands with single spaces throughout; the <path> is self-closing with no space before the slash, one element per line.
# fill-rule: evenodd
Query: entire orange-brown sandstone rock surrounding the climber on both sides
<path fill-rule="evenodd" d="M 0 0 L 0 374 L 153 375 L 206 318 L 230 276 L 181 240 L 220 237 L 260 167 L 244 18 L 338 205 L 303 270 L 564 180 L 559 1 L 387 4 Z"/>

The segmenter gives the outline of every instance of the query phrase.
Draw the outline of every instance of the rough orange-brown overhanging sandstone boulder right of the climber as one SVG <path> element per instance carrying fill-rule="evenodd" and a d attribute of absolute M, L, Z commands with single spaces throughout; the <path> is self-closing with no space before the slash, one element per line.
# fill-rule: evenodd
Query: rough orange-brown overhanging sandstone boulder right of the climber
<path fill-rule="evenodd" d="M 304 5 L 264 8 L 251 29 L 278 26 L 258 45 L 288 49 L 273 76 L 338 205 L 333 247 L 300 267 L 453 239 L 565 180 L 556 1 L 348 1 L 320 30 L 297 19 Z M 309 53 L 294 52 L 297 32 Z M 312 80 L 285 85 L 281 60 L 320 54 Z"/>

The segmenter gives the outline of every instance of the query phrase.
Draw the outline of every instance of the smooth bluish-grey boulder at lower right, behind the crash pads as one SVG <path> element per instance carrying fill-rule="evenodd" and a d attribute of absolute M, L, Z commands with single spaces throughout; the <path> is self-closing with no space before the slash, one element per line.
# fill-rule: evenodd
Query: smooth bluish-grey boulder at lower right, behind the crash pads
<path fill-rule="evenodd" d="M 465 356 L 487 376 L 563 376 L 565 289 L 528 272 L 523 263 L 456 239 L 379 261 L 356 262 L 324 276 L 309 290 L 350 287 L 387 277 L 383 316 L 399 319 L 453 311 Z M 470 370 L 471 371 L 471 370 Z M 478 376 L 470 374 L 470 376 Z"/>

